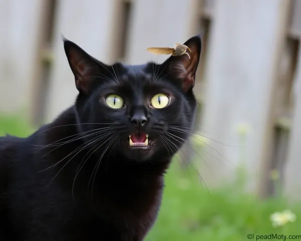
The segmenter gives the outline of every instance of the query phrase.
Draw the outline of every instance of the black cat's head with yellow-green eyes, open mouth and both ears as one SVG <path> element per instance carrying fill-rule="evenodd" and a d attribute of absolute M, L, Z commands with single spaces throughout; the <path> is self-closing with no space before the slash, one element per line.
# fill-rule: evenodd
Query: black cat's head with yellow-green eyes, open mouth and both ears
<path fill-rule="evenodd" d="M 201 38 L 184 44 L 192 51 L 190 59 L 184 54 L 162 64 L 130 66 L 104 64 L 64 40 L 79 91 L 75 105 L 79 130 L 96 154 L 105 151 L 154 162 L 175 154 L 187 141 L 196 108 L 192 89 Z"/>

